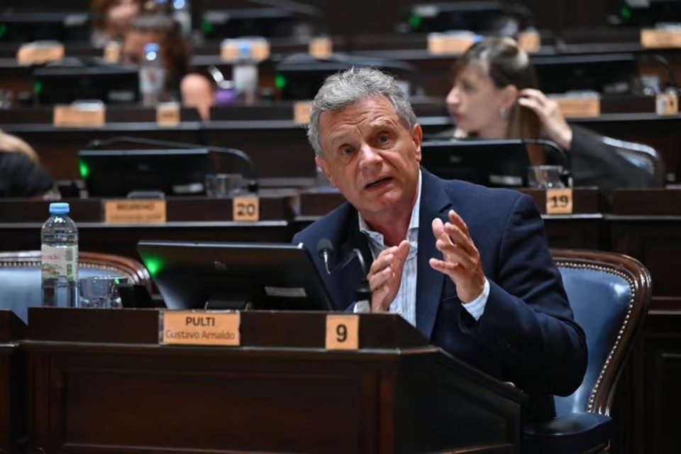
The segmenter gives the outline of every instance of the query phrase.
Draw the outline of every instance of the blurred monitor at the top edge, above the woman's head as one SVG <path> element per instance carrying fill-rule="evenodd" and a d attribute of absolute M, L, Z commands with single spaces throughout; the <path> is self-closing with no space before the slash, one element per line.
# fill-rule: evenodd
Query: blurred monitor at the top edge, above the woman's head
<path fill-rule="evenodd" d="M 507 15 L 501 1 L 457 1 L 415 4 L 406 16 L 403 29 L 411 33 L 489 33 L 501 31 Z"/>

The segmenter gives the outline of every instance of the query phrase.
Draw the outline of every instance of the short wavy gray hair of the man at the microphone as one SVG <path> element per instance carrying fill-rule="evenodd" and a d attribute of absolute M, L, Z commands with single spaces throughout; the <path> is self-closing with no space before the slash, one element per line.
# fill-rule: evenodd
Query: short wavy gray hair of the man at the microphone
<path fill-rule="evenodd" d="M 317 156 L 324 151 L 319 143 L 319 117 L 323 112 L 333 112 L 350 104 L 384 96 L 395 109 L 404 126 L 411 130 L 416 124 L 416 114 L 404 92 L 395 82 L 394 77 L 374 68 L 351 68 L 326 78 L 324 84 L 314 96 L 310 108 L 310 124 L 307 128 L 307 139 Z"/>

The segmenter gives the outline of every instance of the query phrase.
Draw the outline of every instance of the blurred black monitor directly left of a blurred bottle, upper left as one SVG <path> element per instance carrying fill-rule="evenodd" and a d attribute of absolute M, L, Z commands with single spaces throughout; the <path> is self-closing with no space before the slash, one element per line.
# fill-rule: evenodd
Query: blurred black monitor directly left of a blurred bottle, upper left
<path fill-rule="evenodd" d="M 139 72 L 122 65 L 48 65 L 33 71 L 39 104 L 98 100 L 104 104 L 140 101 Z"/>

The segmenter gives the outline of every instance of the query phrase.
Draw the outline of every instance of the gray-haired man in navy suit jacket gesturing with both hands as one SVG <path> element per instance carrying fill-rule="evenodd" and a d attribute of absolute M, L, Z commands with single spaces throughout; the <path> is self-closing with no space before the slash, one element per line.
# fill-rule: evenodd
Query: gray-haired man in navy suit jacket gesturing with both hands
<path fill-rule="evenodd" d="M 360 307 L 359 265 L 329 276 L 315 258 L 336 308 L 397 312 L 443 350 L 526 392 L 527 422 L 553 416 L 551 394 L 579 387 L 587 348 L 533 200 L 421 168 L 421 126 L 377 70 L 329 77 L 308 136 L 347 202 L 293 241 L 315 250 L 330 240 L 330 267 L 355 248 L 371 263 L 372 300 Z"/>

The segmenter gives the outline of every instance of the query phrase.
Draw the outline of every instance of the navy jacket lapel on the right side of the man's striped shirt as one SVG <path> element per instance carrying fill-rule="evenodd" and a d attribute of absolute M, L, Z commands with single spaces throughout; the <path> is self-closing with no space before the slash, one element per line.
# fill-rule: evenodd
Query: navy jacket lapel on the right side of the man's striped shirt
<path fill-rule="evenodd" d="M 419 253 L 416 275 L 416 328 L 431 338 L 440 306 L 445 275 L 433 270 L 428 260 L 442 258 L 435 247 L 431 223 L 436 217 L 447 221 L 451 201 L 438 177 L 421 168 L 421 209 L 419 210 Z"/>

